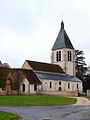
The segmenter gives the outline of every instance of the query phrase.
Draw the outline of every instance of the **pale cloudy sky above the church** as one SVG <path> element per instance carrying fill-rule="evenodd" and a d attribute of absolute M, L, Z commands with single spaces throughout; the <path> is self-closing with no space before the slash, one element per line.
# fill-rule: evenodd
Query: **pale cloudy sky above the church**
<path fill-rule="evenodd" d="M 50 62 L 63 19 L 77 50 L 90 64 L 90 0 L 0 0 L 0 60 L 21 67 L 25 60 Z"/>

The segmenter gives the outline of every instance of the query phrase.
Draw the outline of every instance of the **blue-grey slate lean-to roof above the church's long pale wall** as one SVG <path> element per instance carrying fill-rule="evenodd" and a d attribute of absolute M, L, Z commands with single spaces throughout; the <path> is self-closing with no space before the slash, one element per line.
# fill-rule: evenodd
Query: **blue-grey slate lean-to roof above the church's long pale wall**
<path fill-rule="evenodd" d="M 50 74 L 50 73 L 42 73 L 42 72 L 35 72 L 35 74 L 41 79 L 81 82 L 81 80 L 78 79 L 77 77 L 69 76 L 65 74 L 61 75 L 61 74 Z"/>

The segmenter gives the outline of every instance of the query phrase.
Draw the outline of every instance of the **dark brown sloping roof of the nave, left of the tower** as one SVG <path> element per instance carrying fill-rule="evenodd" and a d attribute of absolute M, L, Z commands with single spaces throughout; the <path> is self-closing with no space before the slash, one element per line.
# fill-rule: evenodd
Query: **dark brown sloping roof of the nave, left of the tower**
<path fill-rule="evenodd" d="M 35 61 L 29 61 L 29 60 L 26 60 L 26 61 L 35 71 L 64 73 L 63 69 L 59 65 L 56 65 L 56 64 L 35 62 Z"/>

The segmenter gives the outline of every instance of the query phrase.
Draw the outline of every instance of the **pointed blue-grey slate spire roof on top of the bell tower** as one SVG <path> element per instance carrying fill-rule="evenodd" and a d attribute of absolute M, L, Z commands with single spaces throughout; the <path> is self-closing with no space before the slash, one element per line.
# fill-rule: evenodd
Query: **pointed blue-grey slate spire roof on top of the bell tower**
<path fill-rule="evenodd" d="M 70 48 L 74 49 L 66 31 L 64 30 L 64 23 L 61 22 L 61 29 L 59 31 L 59 34 L 56 38 L 56 41 L 53 45 L 52 50 L 60 49 L 60 48 Z"/>

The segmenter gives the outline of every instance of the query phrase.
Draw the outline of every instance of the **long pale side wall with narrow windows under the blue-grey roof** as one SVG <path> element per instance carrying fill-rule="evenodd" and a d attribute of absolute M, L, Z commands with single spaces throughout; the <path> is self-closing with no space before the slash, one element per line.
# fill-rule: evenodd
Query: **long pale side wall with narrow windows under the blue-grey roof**
<path fill-rule="evenodd" d="M 52 82 L 52 88 L 50 88 L 50 82 Z M 61 82 L 61 85 L 59 85 Z M 68 88 L 68 83 L 70 83 L 70 88 Z M 78 84 L 78 88 L 77 88 Z M 42 90 L 43 91 L 59 91 L 59 87 L 62 91 L 82 91 L 82 82 L 71 82 L 71 81 L 60 81 L 60 80 L 42 80 Z"/>

